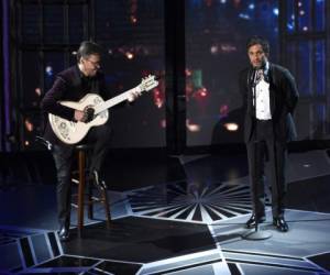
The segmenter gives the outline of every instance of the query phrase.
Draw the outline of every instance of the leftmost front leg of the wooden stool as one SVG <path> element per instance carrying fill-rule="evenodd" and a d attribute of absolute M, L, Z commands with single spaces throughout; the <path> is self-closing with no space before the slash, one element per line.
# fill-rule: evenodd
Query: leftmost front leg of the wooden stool
<path fill-rule="evenodd" d="M 79 186 L 78 186 L 78 235 L 84 227 L 84 193 L 85 193 L 85 153 L 79 151 Z"/>

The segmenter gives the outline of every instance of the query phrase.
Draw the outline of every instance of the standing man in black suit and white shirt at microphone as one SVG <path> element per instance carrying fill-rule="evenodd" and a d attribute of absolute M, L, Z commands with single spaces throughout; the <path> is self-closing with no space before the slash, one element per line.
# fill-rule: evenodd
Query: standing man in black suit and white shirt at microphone
<path fill-rule="evenodd" d="M 248 150 L 253 213 L 246 228 L 265 221 L 265 161 L 271 166 L 274 227 L 288 231 L 284 219 L 287 142 L 296 139 L 293 113 L 298 101 L 296 82 L 288 69 L 270 63 L 270 44 L 253 36 L 246 44 L 250 66 L 240 73 L 240 91 L 246 110 L 244 141 Z"/>

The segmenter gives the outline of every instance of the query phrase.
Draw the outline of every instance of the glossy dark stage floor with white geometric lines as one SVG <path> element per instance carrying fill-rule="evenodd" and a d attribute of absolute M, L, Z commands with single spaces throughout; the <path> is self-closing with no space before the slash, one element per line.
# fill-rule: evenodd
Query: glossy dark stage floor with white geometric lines
<path fill-rule="evenodd" d="M 143 161 L 142 161 L 143 160 Z M 246 156 L 110 157 L 112 222 L 101 206 L 79 238 L 56 230 L 55 170 L 44 152 L 2 154 L 0 274 L 329 274 L 330 160 L 289 155 L 286 219 L 245 240 L 251 215 Z M 96 194 L 97 195 L 97 194 Z M 270 201 L 268 201 L 270 202 Z"/>

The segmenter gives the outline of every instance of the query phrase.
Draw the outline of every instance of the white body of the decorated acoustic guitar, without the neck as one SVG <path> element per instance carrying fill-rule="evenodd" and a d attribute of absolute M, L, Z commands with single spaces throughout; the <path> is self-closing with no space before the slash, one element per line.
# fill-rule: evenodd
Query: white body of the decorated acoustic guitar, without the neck
<path fill-rule="evenodd" d="M 88 94 L 79 102 L 74 101 L 61 101 L 59 103 L 76 110 L 84 111 L 86 107 L 97 107 L 102 105 L 105 101 L 99 95 Z M 92 127 L 98 127 L 105 124 L 109 119 L 109 111 L 105 110 L 95 116 L 95 118 L 88 122 L 74 122 L 55 114 L 50 113 L 48 120 L 51 127 L 56 134 L 56 136 L 66 144 L 76 144 L 81 141 L 89 129 Z"/>

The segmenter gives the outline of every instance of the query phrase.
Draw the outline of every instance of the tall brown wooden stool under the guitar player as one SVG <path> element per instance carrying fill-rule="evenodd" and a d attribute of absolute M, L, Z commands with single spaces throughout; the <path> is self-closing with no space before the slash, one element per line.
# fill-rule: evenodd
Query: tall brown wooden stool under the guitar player
<path fill-rule="evenodd" d="M 85 199 L 85 188 L 86 188 L 86 179 L 89 178 L 88 169 L 86 168 L 86 163 L 88 158 L 88 153 L 90 150 L 92 150 L 91 144 L 79 144 L 76 145 L 75 150 L 78 154 L 78 179 L 73 179 L 74 183 L 78 184 L 78 204 L 77 204 L 77 215 L 78 215 L 78 233 L 81 233 L 81 230 L 84 228 L 84 208 L 85 205 L 88 205 L 88 218 L 92 219 L 94 216 L 94 209 L 92 206 L 95 202 L 102 202 L 106 211 L 106 218 L 107 218 L 107 228 L 110 228 L 110 209 L 109 209 L 109 202 L 108 202 L 108 195 L 107 189 L 101 188 L 97 186 L 97 189 L 99 190 L 100 198 L 96 198 L 92 196 L 92 188 L 91 185 L 89 185 L 89 190 L 87 193 L 87 199 Z M 88 175 L 88 176 L 87 176 Z"/>

